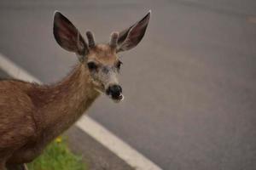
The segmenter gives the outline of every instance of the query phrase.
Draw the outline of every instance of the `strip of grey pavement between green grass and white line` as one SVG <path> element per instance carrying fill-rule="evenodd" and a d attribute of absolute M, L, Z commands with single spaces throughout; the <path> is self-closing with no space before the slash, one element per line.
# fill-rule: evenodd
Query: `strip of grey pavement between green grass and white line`
<path fill-rule="evenodd" d="M 73 152 L 81 155 L 89 165 L 90 170 L 135 170 L 125 161 L 113 154 L 110 150 L 99 144 L 90 135 L 84 133 L 78 127 L 71 127 L 67 130 L 69 147 Z"/>

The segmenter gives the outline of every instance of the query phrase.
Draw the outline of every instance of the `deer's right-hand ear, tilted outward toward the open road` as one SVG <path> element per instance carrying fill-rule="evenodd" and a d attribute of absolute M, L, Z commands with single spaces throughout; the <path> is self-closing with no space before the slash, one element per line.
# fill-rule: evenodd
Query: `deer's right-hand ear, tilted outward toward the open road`
<path fill-rule="evenodd" d="M 119 33 L 117 52 L 134 48 L 141 42 L 147 30 L 150 15 L 151 10 L 142 20 Z"/>

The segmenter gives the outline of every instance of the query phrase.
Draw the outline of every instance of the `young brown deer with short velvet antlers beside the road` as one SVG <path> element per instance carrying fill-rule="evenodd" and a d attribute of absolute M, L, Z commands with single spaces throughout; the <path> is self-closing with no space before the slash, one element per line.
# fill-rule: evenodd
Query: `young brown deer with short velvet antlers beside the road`
<path fill-rule="evenodd" d="M 79 64 L 61 82 L 39 85 L 19 80 L 0 82 L 0 170 L 25 169 L 49 142 L 72 126 L 102 93 L 124 99 L 117 75 L 118 53 L 137 46 L 148 26 L 150 11 L 108 44 L 96 44 L 60 12 L 54 16 L 54 36 L 61 48 L 77 54 Z"/>

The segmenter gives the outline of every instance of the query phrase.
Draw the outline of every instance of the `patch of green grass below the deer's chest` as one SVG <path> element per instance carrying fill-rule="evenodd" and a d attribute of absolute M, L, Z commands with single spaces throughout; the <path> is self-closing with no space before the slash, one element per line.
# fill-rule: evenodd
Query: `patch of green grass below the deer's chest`
<path fill-rule="evenodd" d="M 74 155 L 67 147 L 65 140 L 55 139 L 32 163 L 29 170 L 88 170 L 81 156 Z"/>

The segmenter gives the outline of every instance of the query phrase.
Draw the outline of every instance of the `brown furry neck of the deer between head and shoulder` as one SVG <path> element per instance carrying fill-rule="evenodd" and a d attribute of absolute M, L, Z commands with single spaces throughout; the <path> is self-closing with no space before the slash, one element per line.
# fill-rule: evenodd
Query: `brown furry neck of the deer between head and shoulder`
<path fill-rule="evenodd" d="M 98 96 L 89 71 L 81 64 L 61 82 L 46 88 L 41 95 L 44 103 L 41 103 L 38 113 L 45 142 L 73 125 Z"/>

